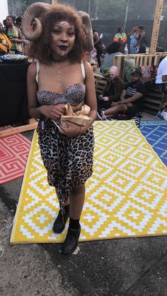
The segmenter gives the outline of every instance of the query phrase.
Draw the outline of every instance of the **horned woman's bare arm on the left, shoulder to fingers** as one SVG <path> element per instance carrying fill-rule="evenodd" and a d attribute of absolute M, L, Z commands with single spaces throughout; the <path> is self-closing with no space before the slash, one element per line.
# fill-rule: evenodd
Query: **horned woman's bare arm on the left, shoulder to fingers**
<path fill-rule="evenodd" d="M 54 120 L 60 119 L 65 113 L 64 105 L 42 105 L 40 106 L 37 98 L 38 83 L 36 77 L 36 63 L 30 64 L 28 67 L 28 111 L 31 117 L 40 118 L 40 115 L 45 115 L 47 118 Z"/>

